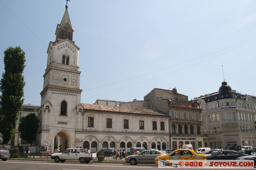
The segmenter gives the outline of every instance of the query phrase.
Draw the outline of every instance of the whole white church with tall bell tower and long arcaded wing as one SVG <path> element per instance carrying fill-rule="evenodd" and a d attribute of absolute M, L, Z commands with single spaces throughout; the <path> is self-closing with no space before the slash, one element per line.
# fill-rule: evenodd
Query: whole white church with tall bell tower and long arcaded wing
<path fill-rule="evenodd" d="M 170 147 L 169 113 L 153 109 L 81 103 L 79 47 L 73 41 L 68 6 L 56 28 L 56 40 L 47 49 L 47 67 L 38 109 L 37 140 L 53 152 L 85 147 L 101 148 Z M 111 101 L 109 101 L 111 102 Z M 115 101 L 113 101 L 115 102 Z"/>

